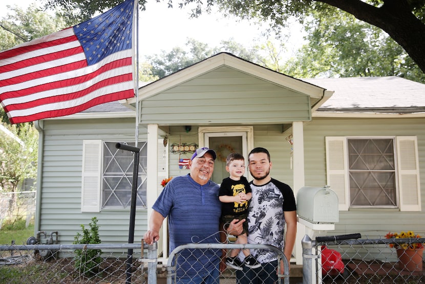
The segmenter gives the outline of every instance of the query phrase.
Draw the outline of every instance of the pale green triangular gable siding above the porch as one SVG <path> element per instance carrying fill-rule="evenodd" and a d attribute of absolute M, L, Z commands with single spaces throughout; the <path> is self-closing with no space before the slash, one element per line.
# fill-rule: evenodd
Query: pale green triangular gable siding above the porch
<path fill-rule="evenodd" d="M 268 124 L 311 118 L 308 95 L 229 67 L 144 98 L 141 104 L 146 124 Z"/>

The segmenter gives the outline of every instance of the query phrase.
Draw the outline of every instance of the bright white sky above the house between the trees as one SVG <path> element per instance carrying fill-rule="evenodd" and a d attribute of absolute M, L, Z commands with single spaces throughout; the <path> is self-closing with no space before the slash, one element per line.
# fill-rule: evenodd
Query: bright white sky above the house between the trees
<path fill-rule="evenodd" d="M 20 0 L 16 5 L 22 8 L 30 3 L 41 3 L 37 0 Z M 176 2 L 177 3 L 177 2 Z M 0 17 L 7 13 L 7 1 L 0 3 Z M 267 25 L 259 26 L 252 21 L 239 21 L 237 18 L 224 18 L 221 13 L 202 14 L 199 18 L 189 18 L 190 8 L 167 8 L 166 2 L 154 0 L 146 4 L 145 11 L 139 11 L 139 54 L 154 55 L 173 47 L 185 48 L 188 38 L 206 43 L 210 48 L 220 45 L 222 40 L 233 38 L 246 48 L 265 43 L 267 38 L 261 37 Z M 302 43 L 302 28 L 291 26 L 291 37 L 286 46 L 284 57 L 289 57 Z M 271 38 L 270 38 L 271 39 Z"/>

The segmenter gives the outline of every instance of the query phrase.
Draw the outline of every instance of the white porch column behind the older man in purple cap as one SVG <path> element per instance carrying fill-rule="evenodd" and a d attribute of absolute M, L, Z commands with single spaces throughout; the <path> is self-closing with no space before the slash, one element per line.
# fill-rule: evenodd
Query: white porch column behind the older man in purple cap
<path fill-rule="evenodd" d="M 147 125 L 147 180 L 146 180 L 146 207 L 147 229 L 152 215 L 152 206 L 158 197 L 158 125 Z"/>

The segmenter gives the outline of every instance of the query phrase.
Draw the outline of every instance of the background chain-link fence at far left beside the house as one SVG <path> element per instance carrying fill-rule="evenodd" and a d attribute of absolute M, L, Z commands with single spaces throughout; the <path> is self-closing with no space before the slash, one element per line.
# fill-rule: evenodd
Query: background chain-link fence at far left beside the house
<path fill-rule="evenodd" d="M 0 229 L 4 220 L 25 219 L 26 227 L 35 213 L 35 191 L 0 192 Z"/>

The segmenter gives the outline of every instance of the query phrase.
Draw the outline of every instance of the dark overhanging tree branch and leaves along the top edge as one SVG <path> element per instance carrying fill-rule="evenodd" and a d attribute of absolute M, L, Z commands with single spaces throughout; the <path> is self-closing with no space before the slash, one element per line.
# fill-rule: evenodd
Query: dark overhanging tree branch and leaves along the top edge
<path fill-rule="evenodd" d="M 78 7 L 82 14 L 90 17 L 96 11 L 116 6 L 119 1 L 45 0 L 45 2 L 47 7 Z M 145 3 L 146 0 L 139 0 L 142 9 Z M 172 0 L 169 0 L 167 4 L 172 7 Z M 423 56 L 425 54 L 425 0 L 208 0 L 206 4 L 202 0 L 179 0 L 178 2 L 179 7 L 191 4 L 195 5 L 193 16 L 198 16 L 202 10 L 209 11 L 212 6 L 218 5 L 228 14 L 259 19 L 259 21 L 270 20 L 274 28 L 285 26 L 290 17 L 304 21 L 313 11 L 321 13 L 330 7 L 335 7 L 352 14 L 360 21 L 384 30 L 406 50 L 422 72 L 425 72 L 425 56 Z"/>

